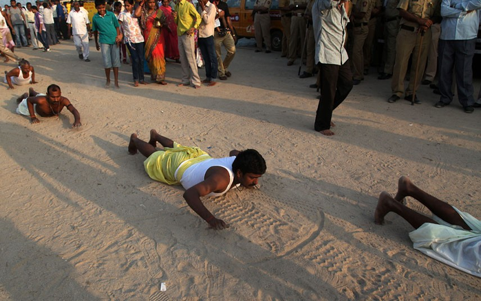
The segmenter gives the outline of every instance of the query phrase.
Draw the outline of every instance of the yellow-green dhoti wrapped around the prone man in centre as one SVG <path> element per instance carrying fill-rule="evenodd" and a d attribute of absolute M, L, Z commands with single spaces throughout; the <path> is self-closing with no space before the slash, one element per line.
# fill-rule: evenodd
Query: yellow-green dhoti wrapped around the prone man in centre
<path fill-rule="evenodd" d="M 212 157 L 204 150 L 173 142 L 173 148 L 166 147 L 145 159 L 144 167 L 151 179 L 177 185 L 187 168 L 206 159 Z"/>

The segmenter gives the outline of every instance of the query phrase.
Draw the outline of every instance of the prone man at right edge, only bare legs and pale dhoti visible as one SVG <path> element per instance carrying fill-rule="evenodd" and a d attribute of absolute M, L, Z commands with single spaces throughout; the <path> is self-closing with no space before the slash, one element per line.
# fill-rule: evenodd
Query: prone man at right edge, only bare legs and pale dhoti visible
<path fill-rule="evenodd" d="M 431 210 L 433 216 L 428 217 L 407 208 L 403 204 L 405 197 L 418 200 Z M 382 225 L 389 212 L 400 215 L 416 229 L 409 233 L 414 249 L 481 277 L 481 221 L 424 192 L 407 177 L 400 177 L 394 199 L 389 193 L 381 192 L 374 221 Z"/>

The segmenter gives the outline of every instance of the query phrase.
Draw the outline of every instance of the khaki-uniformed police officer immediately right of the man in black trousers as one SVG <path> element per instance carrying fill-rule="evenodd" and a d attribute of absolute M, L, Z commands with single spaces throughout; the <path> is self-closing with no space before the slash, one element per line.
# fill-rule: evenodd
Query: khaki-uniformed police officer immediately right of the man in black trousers
<path fill-rule="evenodd" d="M 371 18 L 374 0 L 352 1 L 352 17 L 354 19 L 354 43 L 352 45 L 352 85 L 359 85 L 364 79 L 364 41 L 369 33 L 369 19 Z"/>

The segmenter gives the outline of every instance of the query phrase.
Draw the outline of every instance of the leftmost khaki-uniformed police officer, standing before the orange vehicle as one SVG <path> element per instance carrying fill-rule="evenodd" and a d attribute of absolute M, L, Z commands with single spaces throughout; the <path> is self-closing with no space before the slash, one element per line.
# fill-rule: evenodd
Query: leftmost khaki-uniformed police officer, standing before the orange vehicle
<path fill-rule="evenodd" d="M 272 0 L 256 0 L 254 4 L 254 29 L 255 43 L 257 49 L 255 52 L 262 51 L 262 38 L 266 43 L 266 54 L 270 53 L 270 16 L 269 10 Z"/>

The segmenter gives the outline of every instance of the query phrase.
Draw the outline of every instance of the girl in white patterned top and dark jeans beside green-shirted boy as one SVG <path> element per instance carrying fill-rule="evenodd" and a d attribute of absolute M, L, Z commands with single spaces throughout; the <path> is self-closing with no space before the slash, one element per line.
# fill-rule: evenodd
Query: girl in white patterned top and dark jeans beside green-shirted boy
<path fill-rule="evenodd" d="M 144 80 L 144 36 L 138 25 L 138 18 L 133 16 L 133 0 L 125 0 L 125 10 L 118 15 L 118 22 L 124 34 L 124 43 L 129 47 L 132 61 L 133 85 L 147 85 Z M 139 5 L 138 10 L 142 7 Z"/>

